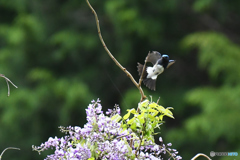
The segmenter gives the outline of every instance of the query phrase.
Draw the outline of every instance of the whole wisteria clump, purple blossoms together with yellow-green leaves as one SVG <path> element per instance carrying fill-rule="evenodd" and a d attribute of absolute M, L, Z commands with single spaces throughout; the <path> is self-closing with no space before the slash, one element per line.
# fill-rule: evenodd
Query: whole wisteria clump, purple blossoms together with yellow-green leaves
<path fill-rule="evenodd" d="M 157 160 L 164 155 L 182 159 L 177 150 L 170 148 L 171 143 L 163 144 L 160 137 L 161 145 L 158 145 L 153 138 L 154 128 L 162 124 L 163 116 L 173 118 L 171 111 L 148 100 L 138 107 L 139 111 L 128 110 L 121 117 L 118 106 L 104 114 L 100 101 L 92 101 L 86 109 L 87 123 L 83 128 L 59 127 L 66 136 L 50 137 L 39 147 L 32 148 L 39 154 L 54 148 L 54 154 L 46 157 L 51 160 Z"/>

